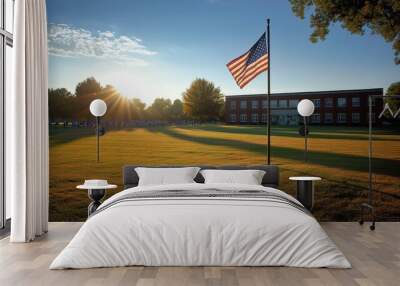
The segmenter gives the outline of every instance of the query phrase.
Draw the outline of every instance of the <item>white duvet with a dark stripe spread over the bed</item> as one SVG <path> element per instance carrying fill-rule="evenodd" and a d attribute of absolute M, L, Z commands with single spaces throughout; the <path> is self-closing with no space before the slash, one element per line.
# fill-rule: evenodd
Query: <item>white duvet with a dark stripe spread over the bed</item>
<path fill-rule="evenodd" d="M 135 187 L 129 192 L 273 188 L 238 184 Z M 102 207 L 100 206 L 100 208 Z M 310 215 L 258 199 L 155 198 L 124 201 L 89 218 L 50 269 L 145 266 L 294 266 L 350 268 Z"/>

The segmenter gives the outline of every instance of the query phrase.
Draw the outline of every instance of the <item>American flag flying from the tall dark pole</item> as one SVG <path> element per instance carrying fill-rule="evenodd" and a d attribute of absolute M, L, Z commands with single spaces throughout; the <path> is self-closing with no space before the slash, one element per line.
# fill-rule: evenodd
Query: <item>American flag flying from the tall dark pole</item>
<path fill-rule="evenodd" d="M 265 33 L 250 50 L 230 61 L 226 66 L 240 88 L 266 71 L 268 69 L 268 53 Z"/>

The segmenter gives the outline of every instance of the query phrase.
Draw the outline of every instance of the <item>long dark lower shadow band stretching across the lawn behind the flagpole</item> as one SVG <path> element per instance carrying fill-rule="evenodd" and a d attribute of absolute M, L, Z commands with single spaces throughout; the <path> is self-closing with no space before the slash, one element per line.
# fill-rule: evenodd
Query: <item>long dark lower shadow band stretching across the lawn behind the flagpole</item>
<path fill-rule="evenodd" d="M 258 143 L 243 142 L 233 139 L 222 139 L 212 137 L 190 136 L 180 133 L 171 127 L 164 128 L 148 128 L 150 132 L 160 132 L 165 135 L 195 143 L 223 146 L 235 148 L 243 151 L 248 151 L 257 154 L 266 154 L 267 146 Z M 294 148 L 271 146 L 271 153 L 274 157 L 290 159 L 295 161 L 303 161 L 303 152 Z M 316 165 L 323 165 L 326 167 L 334 167 L 352 171 L 368 172 L 368 158 L 356 155 L 327 153 L 320 151 L 308 152 L 308 162 Z M 399 176 L 398 170 L 400 169 L 399 160 L 373 158 L 372 161 L 373 172 L 376 174 L 383 174 L 389 176 Z"/>

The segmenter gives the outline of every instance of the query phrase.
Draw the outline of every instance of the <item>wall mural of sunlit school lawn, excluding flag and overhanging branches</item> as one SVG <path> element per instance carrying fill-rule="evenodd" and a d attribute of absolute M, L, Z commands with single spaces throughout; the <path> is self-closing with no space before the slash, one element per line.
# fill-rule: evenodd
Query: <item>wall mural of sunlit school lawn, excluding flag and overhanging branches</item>
<path fill-rule="evenodd" d="M 321 177 L 315 182 L 314 215 L 359 219 L 369 187 L 368 98 L 400 93 L 399 83 L 388 86 L 399 80 L 391 53 L 382 52 L 375 67 L 369 59 L 376 50 L 357 37 L 313 44 L 308 24 L 291 14 L 285 1 L 255 1 L 262 6 L 256 12 L 251 5 L 224 1 L 94 2 L 47 2 L 50 220 L 85 220 L 90 201 L 76 186 L 105 179 L 118 186 L 107 196 L 119 192 L 126 164 L 266 164 L 268 116 L 260 96 L 266 92 L 265 72 L 240 89 L 226 64 L 264 32 L 261 11 L 267 10 L 287 11 L 273 19 L 271 38 L 276 51 L 271 163 L 280 167 L 280 188 L 295 195 L 296 182 L 289 177 Z M 238 20 L 247 24 L 239 28 Z M 334 31 L 334 39 L 347 35 Z M 362 38 L 386 51 L 383 41 Z M 332 50 L 340 57 L 332 59 Z M 352 60 L 355 55 L 362 60 Z M 363 70 L 380 72 L 372 78 L 360 76 Z M 96 99 L 106 104 L 99 126 L 89 109 Z M 301 99 L 315 106 L 306 129 L 297 111 Z M 378 220 L 400 217 L 399 117 L 396 101 L 378 100 L 373 107 L 372 196 Z"/>

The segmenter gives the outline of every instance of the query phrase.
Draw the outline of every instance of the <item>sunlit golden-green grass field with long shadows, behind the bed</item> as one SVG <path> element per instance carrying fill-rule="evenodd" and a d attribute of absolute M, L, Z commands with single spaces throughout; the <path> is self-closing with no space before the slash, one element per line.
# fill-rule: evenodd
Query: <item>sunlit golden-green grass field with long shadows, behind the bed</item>
<path fill-rule="evenodd" d="M 297 127 L 273 126 L 272 163 L 281 169 L 281 190 L 295 193 L 292 175 L 317 175 L 314 215 L 319 220 L 356 220 L 368 184 L 368 136 L 364 128 L 311 127 L 309 162 Z M 75 189 L 84 179 L 105 178 L 122 184 L 122 166 L 265 164 L 263 126 L 201 125 L 108 131 L 101 137 L 96 163 L 92 129 L 50 131 L 50 220 L 82 221 L 89 203 Z M 400 217 L 400 132 L 375 130 L 374 188 L 381 220 Z M 114 192 L 121 191 L 121 187 Z M 114 192 L 108 193 L 108 195 Z"/>

